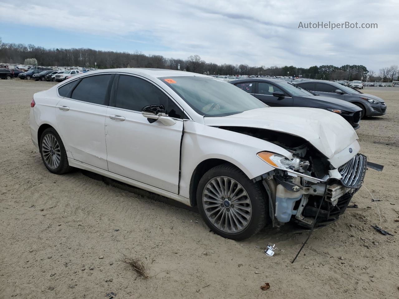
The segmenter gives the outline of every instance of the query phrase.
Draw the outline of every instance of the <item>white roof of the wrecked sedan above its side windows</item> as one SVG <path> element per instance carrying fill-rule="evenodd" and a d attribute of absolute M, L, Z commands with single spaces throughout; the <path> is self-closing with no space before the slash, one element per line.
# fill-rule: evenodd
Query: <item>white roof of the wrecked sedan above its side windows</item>
<path fill-rule="evenodd" d="M 150 68 L 121 68 L 121 69 L 102 69 L 97 71 L 91 71 L 90 75 L 97 73 L 129 73 L 133 75 L 142 75 L 144 77 L 177 77 L 177 76 L 196 76 L 196 77 L 207 77 L 208 75 L 201 75 L 197 73 L 190 73 L 185 71 L 176 71 L 171 69 L 150 69 Z"/>

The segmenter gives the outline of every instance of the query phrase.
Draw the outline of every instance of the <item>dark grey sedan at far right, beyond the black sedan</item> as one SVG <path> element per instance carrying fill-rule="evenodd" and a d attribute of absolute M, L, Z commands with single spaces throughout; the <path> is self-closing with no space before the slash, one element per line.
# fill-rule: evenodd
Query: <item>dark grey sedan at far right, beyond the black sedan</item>
<path fill-rule="evenodd" d="M 339 98 L 346 100 L 361 108 L 361 118 L 364 116 L 381 116 L 387 113 L 387 104 L 382 98 L 372 94 L 363 93 L 359 90 L 340 85 L 336 82 L 324 80 L 312 80 L 298 82 L 296 85 L 311 90 L 321 96 Z"/>

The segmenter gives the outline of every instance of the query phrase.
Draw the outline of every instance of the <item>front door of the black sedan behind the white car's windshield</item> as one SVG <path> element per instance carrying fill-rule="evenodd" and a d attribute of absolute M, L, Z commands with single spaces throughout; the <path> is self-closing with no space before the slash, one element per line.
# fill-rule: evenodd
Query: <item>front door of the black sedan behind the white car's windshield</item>
<path fill-rule="evenodd" d="M 285 97 L 281 98 L 273 96 L 273 92 L 275 91 L 283 92 Z M 292 106 L 293 102 L 292 97 L 289 94 L 284 92 L 284 90 L 280 89 L 276 85 L 273 85 L 268 82 L 257 82 L 255 97 L 257 97 L 259 100 L 261 100 L 262 102 L 264 102 L 269 106 L 276 106 L 276 107 Z"/>

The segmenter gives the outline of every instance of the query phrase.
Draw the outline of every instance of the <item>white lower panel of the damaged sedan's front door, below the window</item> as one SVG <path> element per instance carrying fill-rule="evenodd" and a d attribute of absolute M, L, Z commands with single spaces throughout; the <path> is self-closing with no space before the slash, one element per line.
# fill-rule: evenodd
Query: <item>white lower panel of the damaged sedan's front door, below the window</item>
<path fill-rule="evenodd" d="M 177 194 L 182 130 L 182 120 L 173 126 L 160 121 L 150 124 L 141 112 L 109 107 L 105 118 L 108 170 Z"/>

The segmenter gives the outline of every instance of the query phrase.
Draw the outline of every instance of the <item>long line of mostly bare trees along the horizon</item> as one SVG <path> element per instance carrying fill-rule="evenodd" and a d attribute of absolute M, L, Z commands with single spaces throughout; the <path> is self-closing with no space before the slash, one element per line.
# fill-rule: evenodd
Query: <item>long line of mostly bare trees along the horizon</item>
<path fill-rule="evenodd" d="M 46 49 L 32 44 L 2 43 L 0 39 L 0 62 L 2 63 L 23 63 L 26 59 L 36 59 L 41 66 L 57 67 L 95 67 L 97 62 L 99 69 L 113 69 L 122 67 L 147 67 L 158 69 L 180 69 L 194 73 L 208 75 L 269 75 L 269 76 L 301 76 L 311 79 L 325 80 L 366 80 L 369 81 L 392 81 L 399 75 L 397 65 L 384 67 L 379 72 L 367 70 L 364 65 L 320 65 L 309 68 L 291 66 L 261 65 L 249 66 L 247 64 L 232 65 L 205 62 L 199 55 L 190 55 L 187 59 L 166 58 L 162 55 L 145 55 L 141 51 L 115 52 L 100 51 L 86 48 L 55 48 Z M 35 61 L 35 60 L 30 60 Z"/>

